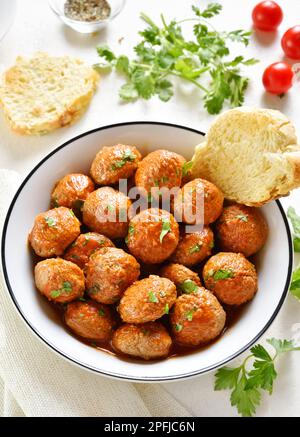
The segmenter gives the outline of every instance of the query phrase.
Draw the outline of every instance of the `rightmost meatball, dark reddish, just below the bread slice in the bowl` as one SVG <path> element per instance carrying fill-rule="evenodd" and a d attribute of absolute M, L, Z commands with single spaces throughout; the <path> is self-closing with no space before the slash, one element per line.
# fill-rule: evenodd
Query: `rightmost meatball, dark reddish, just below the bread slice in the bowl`
<path fill-rule="evenodd" d="M 241 252 L 246 257 L 258 252 L 268 237 L 268 225 L 260 210 L 238 204 L 224 208 L 216 231 L 222 251 Z"/>

